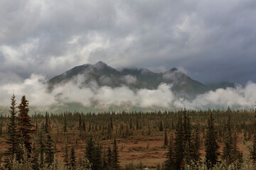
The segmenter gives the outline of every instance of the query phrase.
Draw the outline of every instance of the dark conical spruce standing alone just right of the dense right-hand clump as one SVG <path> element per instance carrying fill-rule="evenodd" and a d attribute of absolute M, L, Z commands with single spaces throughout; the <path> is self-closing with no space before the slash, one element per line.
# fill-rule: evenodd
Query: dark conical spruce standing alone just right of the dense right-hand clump
<path fill-rule="evenodd" d="M 220 155 L 218 152 L 220 147 L 217 143 L 217 132 L 215 131 L 213 121 L 213 115 L 210 113 L 206 132 L 206 164 L 208 169 L 218 162 L 218 156 Z"/>

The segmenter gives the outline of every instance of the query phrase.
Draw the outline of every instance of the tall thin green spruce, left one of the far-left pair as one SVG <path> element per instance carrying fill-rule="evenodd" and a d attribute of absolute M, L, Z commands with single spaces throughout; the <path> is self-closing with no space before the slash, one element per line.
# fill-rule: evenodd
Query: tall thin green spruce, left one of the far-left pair
<path fill-rule="evenodd" d="M 16 154 L 17 159 L 21 159 L 20 155 L 20 148 L 18 146 L 18 126 L 17 126 L 17 121 L 16 121 L 16 99 L 15 95 L 11 97 L 11 106 L 10 106 L 10 122 L 7 125 L 7 130 L 6 130 L 6 144 L 7 144 L 7 149 L 5 152 L 6 156 L 6 162 L 9 162 L 9 160 L 14 159 L 14 154 Z"/>

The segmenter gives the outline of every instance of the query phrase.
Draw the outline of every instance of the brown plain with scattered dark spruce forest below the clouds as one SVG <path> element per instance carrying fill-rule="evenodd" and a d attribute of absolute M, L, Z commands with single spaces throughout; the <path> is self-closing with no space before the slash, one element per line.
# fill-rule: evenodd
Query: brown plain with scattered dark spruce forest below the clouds
<path fill-rule="evenodd" d="M 30 113 L 26 96 L 10 103 L 1 169 L 256 169 L 253 108 Z"/>

